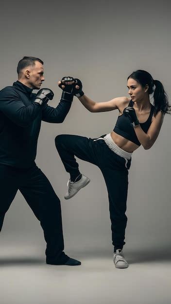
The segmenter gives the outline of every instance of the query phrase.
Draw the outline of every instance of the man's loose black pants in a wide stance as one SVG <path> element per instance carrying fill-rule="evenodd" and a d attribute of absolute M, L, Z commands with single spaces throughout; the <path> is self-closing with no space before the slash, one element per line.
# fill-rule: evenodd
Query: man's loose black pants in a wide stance
<path fill-rule="evenodd" d="M 5 213 L 18 189 L 43 228 L 47 242 L 47 262 L 64 264 L 69 257 L 63 252 L 60 200 L 45 174 L 36 165 L 29 169 L 18 169 L 0 164 L 0 231 Z"/>

